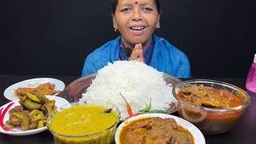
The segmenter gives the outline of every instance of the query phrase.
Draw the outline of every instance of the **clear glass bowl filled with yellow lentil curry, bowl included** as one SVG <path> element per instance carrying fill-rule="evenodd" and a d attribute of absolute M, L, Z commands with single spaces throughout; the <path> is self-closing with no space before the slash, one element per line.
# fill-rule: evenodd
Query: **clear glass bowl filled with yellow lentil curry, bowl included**
<path fill-rule="evenodd" d="M 73 102 L 55 110 L 46 126 L 54 142 L 109 144 L 120 121 L 120 111 L 109 102 Z"/>

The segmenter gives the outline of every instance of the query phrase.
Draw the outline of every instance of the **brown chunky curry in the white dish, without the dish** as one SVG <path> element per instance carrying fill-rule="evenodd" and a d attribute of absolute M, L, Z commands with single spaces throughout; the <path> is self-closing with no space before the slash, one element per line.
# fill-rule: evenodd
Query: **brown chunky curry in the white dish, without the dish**
<path fill-rule="evenodd" d="M 143 118 L 129 123 L 120 134 L 120 144 L 194 143 L 192 134 L 173 118 Z"/>

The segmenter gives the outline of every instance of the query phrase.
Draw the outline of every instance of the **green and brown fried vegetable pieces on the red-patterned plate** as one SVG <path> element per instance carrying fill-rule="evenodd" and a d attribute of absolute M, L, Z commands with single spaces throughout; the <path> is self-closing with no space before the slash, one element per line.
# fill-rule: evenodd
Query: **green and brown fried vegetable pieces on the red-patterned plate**
<path fill-rule="evenodd" d="M 34 101 L 33 98 L 40 102 Z M 57 108 L 54 100 L 38 94 L 33 97 L 27 95 L 20 97 L 19 103 L 21 106 L 15 106 L 9 111 L 10 118 L 6 122 L 6 127 L 21 126 L 22 130 L 41 128 L 46 125 L 46 119 Z"/>

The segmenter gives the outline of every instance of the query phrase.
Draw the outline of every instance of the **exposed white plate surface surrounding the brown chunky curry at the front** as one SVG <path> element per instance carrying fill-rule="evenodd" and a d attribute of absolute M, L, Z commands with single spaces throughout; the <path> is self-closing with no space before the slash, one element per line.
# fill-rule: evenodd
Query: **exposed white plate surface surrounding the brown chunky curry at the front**
<path fill-rule="evenodd" d="M 126 121 L 122 122 L 118 126 L 118 129 L 114 134 L 114 141 L 116 142 L 116 144 L 119 143 L 119 134 L 124 126 L 127 126 L 130 122 L 132 122 L 134 120 L 138 120 L 140 118 L 151 118 L 151 117 L 174 118 L 179 126 L 182 126 L 182 127 L 186 128 L 186 130 L 190 131 L 190 133 L 194 137 L 194 144 L 205 144 L 206 143 L 206 139 L 204 138 L 202 132 L 200 130 L 198 130 L 198 128 L 196 126 L 194 126 L 192 123 L 186 121 L 185 119 L 178 118 L 174 115 L 169 115 L 169 114 L 142 114 L 142 115 L 138 115 L 138 116 L 126 119 Z"/>

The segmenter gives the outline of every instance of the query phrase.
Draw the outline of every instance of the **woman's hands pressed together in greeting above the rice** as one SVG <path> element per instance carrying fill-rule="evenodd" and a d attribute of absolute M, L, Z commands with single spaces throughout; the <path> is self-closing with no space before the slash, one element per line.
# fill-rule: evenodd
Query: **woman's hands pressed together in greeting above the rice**
<path fill-rule="evenodd" d="M 142 50 L 142 44 L 136 44 L 134 46 L 134 50 L 130 54 L 130 61 L 139 61 L 144 62 L 144 56 L 143 56 L 143 50 Z"/>

